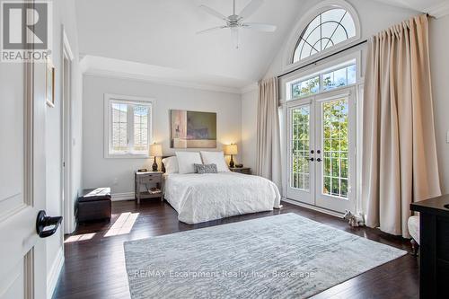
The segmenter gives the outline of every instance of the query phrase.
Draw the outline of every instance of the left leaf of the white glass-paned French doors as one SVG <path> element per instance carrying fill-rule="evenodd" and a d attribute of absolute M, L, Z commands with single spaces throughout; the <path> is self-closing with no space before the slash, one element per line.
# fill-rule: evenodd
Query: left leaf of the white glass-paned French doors
<path fill-rule="evenodd" d="M 314 204 L 313 98 L 288 107 L 288 186 L 287 197 Z"/>

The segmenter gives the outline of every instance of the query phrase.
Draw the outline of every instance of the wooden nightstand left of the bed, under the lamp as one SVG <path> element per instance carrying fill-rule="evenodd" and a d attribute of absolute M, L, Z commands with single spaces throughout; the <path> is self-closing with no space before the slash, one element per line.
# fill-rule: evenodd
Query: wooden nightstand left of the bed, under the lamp
<path fill-rule="evenodd" d="M 134 192 L 137 204 L 140 204 L 141 198 L 161 198 L 163 201 L 162 182 L 163 172 L 134 172 Z M 145 191 L 142 191 L 142 187 L 145 187 Z"/>

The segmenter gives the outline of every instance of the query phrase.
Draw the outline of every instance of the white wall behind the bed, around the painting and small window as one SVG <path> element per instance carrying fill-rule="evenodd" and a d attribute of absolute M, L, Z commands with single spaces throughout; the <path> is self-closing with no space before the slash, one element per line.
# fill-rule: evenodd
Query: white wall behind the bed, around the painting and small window
<path fill-rule="evenodd" d="M 134 171 L 151 169 L 150 159 L 107 159 L 103 156 L 104 93 L 132 95 L 156 100 L 154 141 L 163 145 L 163 154 L 174 154 L 170 148 L 169 110 L 216 112 L 217 146 L 237 143 L 241 148 L 242 111 L 239 94 L 208 92 L 185 87 L 154 84 L 122 78 L 84 75 L 83 105 L 83 186 L 110 186 L 113 194 L 134 190 Z M 214 150 L 214 149 L 213 149 Z M 239 156 L 235 161 L 239 161 Z M 160 165 L 160 163 L 159 163 Z"/>

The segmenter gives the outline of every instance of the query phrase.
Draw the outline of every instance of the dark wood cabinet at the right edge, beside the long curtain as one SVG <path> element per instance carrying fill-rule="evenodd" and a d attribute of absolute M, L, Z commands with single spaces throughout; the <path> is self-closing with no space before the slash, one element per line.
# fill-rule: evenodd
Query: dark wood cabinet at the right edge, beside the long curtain
<path fill-rule="evenodd" d="M 419 212 L 419 297 L 449 298 L 449 195 L 410 205 Z"/>

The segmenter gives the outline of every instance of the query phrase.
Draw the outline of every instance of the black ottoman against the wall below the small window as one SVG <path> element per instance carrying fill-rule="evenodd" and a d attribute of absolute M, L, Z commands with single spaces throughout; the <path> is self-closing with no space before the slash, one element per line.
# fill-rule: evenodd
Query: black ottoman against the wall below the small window
<path fill-rule="evenodd" d="M 78 198 L 78 222 L 110 220 L 110 188 L 84 189 Z"/>

